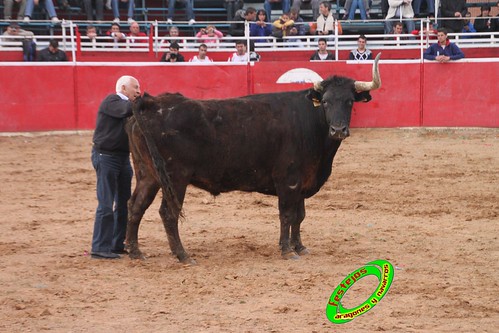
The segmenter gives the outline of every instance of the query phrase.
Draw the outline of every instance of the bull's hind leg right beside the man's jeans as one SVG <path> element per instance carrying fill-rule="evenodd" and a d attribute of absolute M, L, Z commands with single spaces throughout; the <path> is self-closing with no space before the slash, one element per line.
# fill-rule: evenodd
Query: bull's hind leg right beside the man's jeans
<path fill-rule="evenodd" d="M 139 179 L 137 177 L 137 186 L 128 201 L 128 224 L 125 241 L 126 249 L 132 259 L 144 258 L 138 242 L 140 221 L 156 197 L 158 190 L 159 185 L 154 179 Z"/>

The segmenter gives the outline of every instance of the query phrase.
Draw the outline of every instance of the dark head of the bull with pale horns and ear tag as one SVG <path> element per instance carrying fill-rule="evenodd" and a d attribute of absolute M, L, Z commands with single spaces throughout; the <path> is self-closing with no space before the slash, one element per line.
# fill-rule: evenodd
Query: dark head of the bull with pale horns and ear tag
<path fill-rule="evenodd" d="M 333 76 L 316 82 L 310 89 L 308 97 L 314 105 L 324 110 L 329 125 L 329 135 L 334 140 L 343 140 L 350 135 L 349 126 L 354 102 L 369 102 L 369 91 L 381 86 L 378 72 L 380 54 L 373 64 L 373 80 L 371 82 L 354 81 L 352 79 Z"/>

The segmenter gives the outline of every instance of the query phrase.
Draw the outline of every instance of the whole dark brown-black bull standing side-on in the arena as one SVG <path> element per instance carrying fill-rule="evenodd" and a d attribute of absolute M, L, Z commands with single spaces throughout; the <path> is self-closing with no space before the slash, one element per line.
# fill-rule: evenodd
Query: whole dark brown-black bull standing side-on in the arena
<path fill-rule="evenodd" d="M 308 253 L 300 238 L 304 199 L 331 174 L 336 151 L 349 135 L 353 103 L 369 101 L 369 91 L 380 86 L 378 60 L 371 82 L 333 76 L 302 91 L 223 100 L 145 94 L 127 126 L 137 180 L 128 203 L 130 256 L 143 257 L 140 220 L 161 188 L 159 213 L 171 251 L 181 262 L 192 262 L 178 231 L 189 184 L 213 195 L 234 190 L 276 195 L 282 256 Z"/>

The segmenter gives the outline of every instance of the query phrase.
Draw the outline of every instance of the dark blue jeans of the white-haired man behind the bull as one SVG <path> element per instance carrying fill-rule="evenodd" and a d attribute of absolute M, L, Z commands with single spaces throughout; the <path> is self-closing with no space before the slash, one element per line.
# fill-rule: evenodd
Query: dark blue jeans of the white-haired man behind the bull
<path fill-rule="evenodd" d="M 120 251 L 125 248 L 128 199 L 132 192 L 132 166 L 126 155 L 101 154 L 92 150 L 97 174 L 97 201 L 92 252 Z"/>

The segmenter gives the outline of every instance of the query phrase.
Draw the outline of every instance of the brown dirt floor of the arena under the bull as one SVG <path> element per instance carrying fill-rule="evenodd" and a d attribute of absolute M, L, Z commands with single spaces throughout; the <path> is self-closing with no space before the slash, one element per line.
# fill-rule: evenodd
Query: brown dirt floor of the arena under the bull
<path fill-rule="evenodd" d="M 169 254 L 159 200 L 146 260 L 89 257 L 90 149 L 88 132 L 0 137 L 0 332 L 498 332 L 499 129 L 353 129 L 306 201 L 296 261 L 280 257 L 276 198 L 190 188 L 180 233 L 197 266 Z M 376 259 L 395 267 L 388 294 L 331 323 L 335 287 Z"/>

